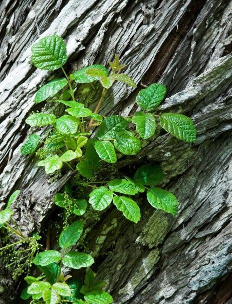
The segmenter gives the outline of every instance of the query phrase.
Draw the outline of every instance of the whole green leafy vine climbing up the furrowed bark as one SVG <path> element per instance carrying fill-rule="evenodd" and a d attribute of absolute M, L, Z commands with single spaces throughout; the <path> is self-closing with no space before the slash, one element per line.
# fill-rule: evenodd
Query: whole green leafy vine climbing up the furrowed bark
<path fill-rule="evenodd" d="M 85 214 L 88 202 L 92 209 L 97 211 L 104 210 L 113 202 L 128 220 L 137 223 L 141 217 L 140 208 L 132 197 L 142 192 L 146 192 L 152 207 L 176 215 L 176 197 L 156 187 L 163 179 L 163 171 L 159 165 L 144 164 L 133 176 L 120 176 L 105 181 L 102 180 L 101 164 L 106 162 L 109 168 L 115 168 L 114 164 L 122 155 L 136 155 L 142 149 L 143 141 L 154 136 L 157 123 L 172 136 L 189 143 L 195 142 L 196 129 L 191 119 L 184 115 L 163 113 L 159 116 L 152 113 L 166 94 L 166 87 L 158 83 L 139 91 L 136 103 L 141 110 L 134 115 L 103 117 L 99 114 L 100 107 L 104 104 L 107 91 L 116 81 L 136 88 L 135 82 L 121 72 L 125 65 L 120 63 L 118 55 L 115 54 L 114 61 L 109 62 L 111 72 L 106 67 L 95 64 L 68 75 L 63 68 L 67 60 L 66 45 L 57 35 L 44 37 L 32 46 L 32 62 L 37 68 L 50 71 L 61 69 L 64 74 L 63 78 L 54 79 L 42 86 L 35 95 L 35 103 L 47 100 L 49 103 L 63 104 L 66 114 L 56 117 L 53 113 L 32 113 L 26 119 L 26 123 L 32 128 L 51 128 L 43 140 L 38 134 L 31 134 L 21 148 L 21 153 L 28 155 L 34 153 L 39 145 L 43 145 L 36 155 L 40 158 L 38 166 L 44 167 L 47 174 L 56 177 L 59 172 L 74 172 L 74 177 L 70 184 L 65 186 L 65 191 L 57 193 L 54 198 L 55 204 L 65 210 L 63 231 L 59 236 L 60 250 L 41 248 L 41 252 L 37 254 L 41 247 L 37 242 L 40 237 L 38 234 L 32 237 L 23 235 L 12 218 L 11 204 L 8 204 L 7 208 L 0 212 L 0 224 L 20 240 L 0 248 L 0 251 L 3 253 L 13 244 L 34 244 L 30 245 L 33 249 L 29 246 L 28 265 L 23 264 L 21 271 L 15 273 L 17 278 L 22 269 L 28 266 L 30 268 L 32 260 L 43 273 L 38 277 L 25 277 L 28 287 L 23 290 L 21 297 L 32 297 L 31 303 L 110 304 L 113 301 L 112 296 L 102 290 L 103 281 L 96 280 L 96 275 L 90 268 L 86 272 L 84 284 L 69 274 L 64 275 L 64 269 L 67 270 L 67 267 L 80 269 L 90 267 L 94 262 L 89 253 L 72 250 L 72 247 L 80 242 L 84 229 L 84 221 L 72 219 Z M 102 86 L 102 92 L 92 112 L 85 106 L 85 101 L 76 100 L 73 83 L 91 84 L 97 81 Z M 95 128 L 97 130 L 93 132 Z M 80 190 L 78 193 L 73 191 L 76 187 Z"/>

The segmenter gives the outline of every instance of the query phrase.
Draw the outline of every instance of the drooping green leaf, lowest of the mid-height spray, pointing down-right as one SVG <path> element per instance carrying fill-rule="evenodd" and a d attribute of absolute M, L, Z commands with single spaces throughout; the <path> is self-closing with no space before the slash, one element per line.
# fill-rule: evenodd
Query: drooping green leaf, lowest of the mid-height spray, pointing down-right
<path fill-rule="evenodd" d="M 114 196 L 113 203 L 125 218 L 137 223 L 140 220 L 139 206 L 131 198 L 126 196 Z"/>

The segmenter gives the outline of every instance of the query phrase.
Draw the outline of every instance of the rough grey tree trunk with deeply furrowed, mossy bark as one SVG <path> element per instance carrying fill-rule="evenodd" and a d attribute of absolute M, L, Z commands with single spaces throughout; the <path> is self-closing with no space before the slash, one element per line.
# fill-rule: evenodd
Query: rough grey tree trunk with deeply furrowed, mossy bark
<path fill-rule="evenodd" d="M 101 113 L 134 113 L 138 91 L 159 82 L 167 98 L 158 112 L 191 117 L 197 142 L 159 131 L 139 155 L 120 160 L 117 169 L 127 174 L 139 163 L 159 162 L 162 186 L 178 198 L 179 212 L 154 211 L 143 196 L 138 224 L 114 208 L 102 212 L 86 236 L 94 270 L 107 281 L 115 304 L 231 303 L 231 1 L 3 0 L 0 11 L 0 206 L 21 189 L 14 204 L 19 226 L 28 234 L 46 228 L 54 194 L 72 175 L 50 183 L 35 156 L 20 153 L 30 134 L 25 118 L 44 106 L 35 105 L 33 96 L 55 75 L 32 65 L 32 44 L 62 36 L 70 72 L 107 66 L 117 53 L 138 86 L 115 84 Z M 0 303 L 18 303 L 18 283 L 1 272 Z"/>

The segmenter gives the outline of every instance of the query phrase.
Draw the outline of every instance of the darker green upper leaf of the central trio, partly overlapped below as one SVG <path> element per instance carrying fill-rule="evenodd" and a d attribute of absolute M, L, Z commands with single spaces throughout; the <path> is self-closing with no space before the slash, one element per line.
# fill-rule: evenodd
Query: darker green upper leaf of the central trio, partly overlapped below
<path fill-rule="evenodd" d="M 115 138 L 116 133 L 124 131 L 127 126 L 128 122 L 122 116 L 109 116 L 100 124 L 96 137 L 102 140 Z"/>

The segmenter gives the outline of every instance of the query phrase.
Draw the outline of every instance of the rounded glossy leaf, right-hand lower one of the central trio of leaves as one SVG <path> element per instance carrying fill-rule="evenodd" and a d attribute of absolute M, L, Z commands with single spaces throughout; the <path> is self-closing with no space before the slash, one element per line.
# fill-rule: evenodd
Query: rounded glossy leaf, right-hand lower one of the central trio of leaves
<path fill-rule="evenodd" d="M 115 148 L 125 155 L 135 155 L 141 149 L 141 142 L 132 132 L 122 131 L 116 134 Z"/>

